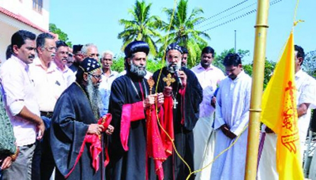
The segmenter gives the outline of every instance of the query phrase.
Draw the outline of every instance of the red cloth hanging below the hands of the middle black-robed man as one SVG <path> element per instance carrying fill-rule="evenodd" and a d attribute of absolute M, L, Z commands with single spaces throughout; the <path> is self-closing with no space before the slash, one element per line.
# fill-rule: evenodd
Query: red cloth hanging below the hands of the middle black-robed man
<path fill-rule="evenodd" d="M 159 113 L 162 117 L 163 109 Z M 157 123 L 157 114 L 155 105 L 146 109 L 146 127 L 147 127 L 147 155 L 154 160 L 155 173 L 159 180 L 164 179 L 163 162 L 167 159 L 164 144 L 160 136 Z"/>

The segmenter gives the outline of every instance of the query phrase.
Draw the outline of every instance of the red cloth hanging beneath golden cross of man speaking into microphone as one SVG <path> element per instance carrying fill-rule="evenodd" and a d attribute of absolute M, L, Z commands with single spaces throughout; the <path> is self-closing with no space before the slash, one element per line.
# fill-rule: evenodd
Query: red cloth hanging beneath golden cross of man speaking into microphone
<path fill-rule="evenodd" d="M 161 129 L 161 139 L 163 141 L 163 145 L 165 148 L 165 151 L 167 153 L 167 156 L 172 155 L 172 142 L 174 140 L 174 134 L 173 134 L 173 100 L 172 97 L 165 97 L 164 100 L 164 116 L 160 119 L 160 123 L 162 127 L 165 129 L 165 131 L 169 134 L 170 138 L 167 136 L 165 131 Z"/>

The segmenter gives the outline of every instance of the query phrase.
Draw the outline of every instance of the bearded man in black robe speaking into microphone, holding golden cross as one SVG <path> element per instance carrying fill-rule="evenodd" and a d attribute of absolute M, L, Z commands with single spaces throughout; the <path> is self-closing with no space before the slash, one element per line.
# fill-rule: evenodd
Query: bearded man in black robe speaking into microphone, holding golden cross
<path fill-rule="evenodd" d="M 193 132 L 196 121 L 199 119 L 199 104 L 202 102 L 203 90 L 193 72 L 181 67 L 182 49 L 176 43 L 170 44 L 166 49 L 166 67 L 153 74 L 155 84 L 158 84 L 157 92 L 163 92 L 165 102 L 172 98 L 173 107 L 169 111 L 173 116 L 173 132 L 168 131 L 174 137 L 176 150 L 190 166 L 193 166 Z M 160 76 L 160 79 L 158 80 Z M 170 83 L 170 85 L 169 85 Z M 170 109 L 172 108 L 172 110 Z M 164 109 L 165 113 L 168 109 Z M 166 116 L 165 116 L 166 117 Z M 169 119 L 165 118 L 165 121 Z M 172 127 L 172 125 L 170 126 Z M 162 131 L 162 133 L 164 133 Z M 172 134 L 173 133 L 173 134 Z M 171 154 L 172 153 L 172 154 Z M 165 179 L 186 179 L 189 169 L 183 163 L 174 150 L 163 163 Z M 194 175 L 191 176 L 191 179 Z"/>

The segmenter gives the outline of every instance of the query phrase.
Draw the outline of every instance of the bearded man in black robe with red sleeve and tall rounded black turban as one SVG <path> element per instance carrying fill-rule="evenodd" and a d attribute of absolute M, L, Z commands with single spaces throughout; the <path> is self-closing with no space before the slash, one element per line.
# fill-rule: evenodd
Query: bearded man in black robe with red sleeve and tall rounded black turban
<path fill-rule="evenodd" d="M 109 145 L 107 179 L 146 179 L 145 109 L 163 103 L 163 94 L 150 95 L 146 75 L 146 42 L 133 41 L 124 50 L 126 75 L 112 83 L 109 113 L 115 128 Z"/>

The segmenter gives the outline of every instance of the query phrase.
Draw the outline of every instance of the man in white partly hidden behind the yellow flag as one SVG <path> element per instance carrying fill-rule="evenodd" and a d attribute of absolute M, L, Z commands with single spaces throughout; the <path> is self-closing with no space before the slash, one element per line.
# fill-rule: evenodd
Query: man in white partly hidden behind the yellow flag
<path fill-rule="evenodd" d="M 305 141 L 308 132 L 311 109 L 316 108 L 316 80 L 305 73 L 301 67 L 305 53 L 302 47 L 295 45 L 295 86 L 297 88 L 298 126 L 300 136 L 301 158 L 304 157 Z M 258 179 L 279 179 L 276 164 L 276 148 L 278 136 L 263 125 L 259 147 Z M 302 161 L 303 162 L 303 161 Z"/>

